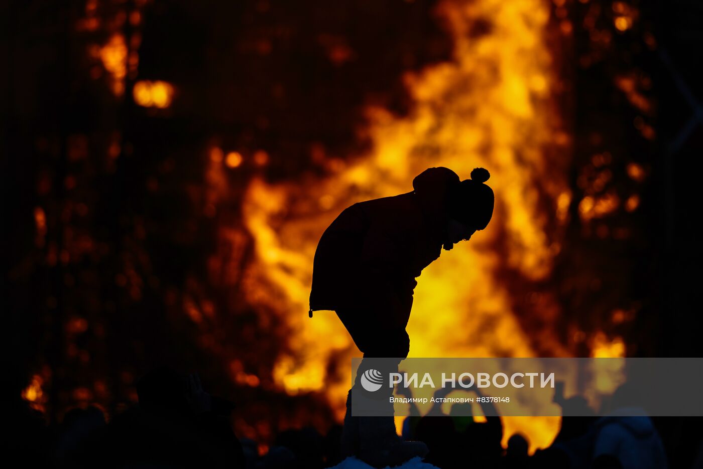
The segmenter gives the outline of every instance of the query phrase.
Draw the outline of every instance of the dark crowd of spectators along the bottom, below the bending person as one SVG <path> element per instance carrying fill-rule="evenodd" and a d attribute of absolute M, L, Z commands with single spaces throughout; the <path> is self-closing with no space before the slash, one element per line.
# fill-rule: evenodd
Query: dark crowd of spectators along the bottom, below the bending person
<path fill-rule="evenodd" d="M 137 382 L 136 390 L 138 404 L 109 422 L 101 409 L 89 406 L 71 409 L 60 423 L 46 426 L 43 416 L 19 395 L 5 400 L 11 430 L 4 437 L 6 457 L 48 468 L 321 469 L 340 463 L 344 468 L 368 467 L 361 461 L 342 462 L 341 425 L 326 435 L 313 428 L 282 431 L 260 454 L 262 442 L 234 434 L 230 417 L 236 407 L 209 395 L 195 374 L 153 369 Z M 436 397 L 446 392 L 438 390 Z M 557 394 L 555 402 L 562 408 L 580 406 L 587 413 L 582 397 L 564 399 Z M 423 462 L 441 469 L 703 467 L 699 419 L 608 416 L 606 411 L 598 417 L 591 410 L 591 416 L 562 418 L 553 444 L 529 454 L 529 435 L 511 435 L 506 447 L 501 445 L 503 425 L 493 404 L 480 404 L 482 422 L 475 421 L 470 409 L 460 408 L 466 405 L 471 404 L 454 404 L 449 415 L 438 404 L 424 416 L 411 408 L 402 438 L 427 444 Z M 617 392 L 607 405 L 606 409 L 617 407 Z"/>

